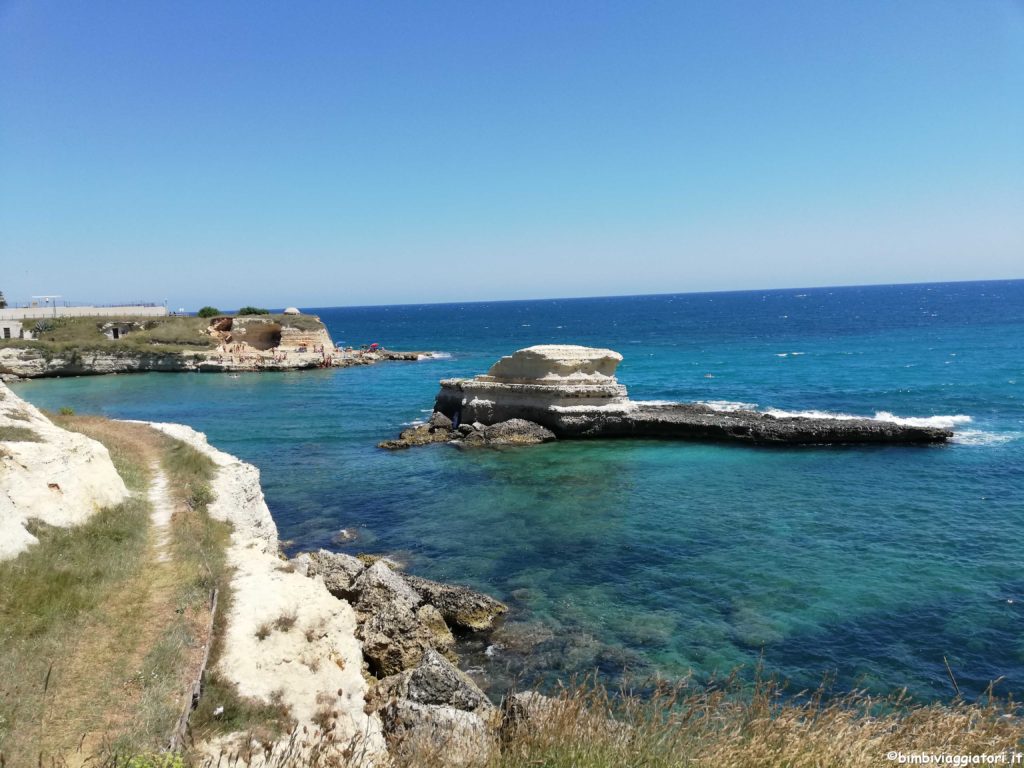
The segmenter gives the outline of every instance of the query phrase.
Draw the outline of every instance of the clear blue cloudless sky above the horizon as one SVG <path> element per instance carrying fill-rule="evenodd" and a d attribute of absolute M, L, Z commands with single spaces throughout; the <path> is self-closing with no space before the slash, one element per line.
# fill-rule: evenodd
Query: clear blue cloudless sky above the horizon
<path fill-rule="evenodd" d="M 1021 0 L 0 0 L 0 290 L 1024 278 Z"/>

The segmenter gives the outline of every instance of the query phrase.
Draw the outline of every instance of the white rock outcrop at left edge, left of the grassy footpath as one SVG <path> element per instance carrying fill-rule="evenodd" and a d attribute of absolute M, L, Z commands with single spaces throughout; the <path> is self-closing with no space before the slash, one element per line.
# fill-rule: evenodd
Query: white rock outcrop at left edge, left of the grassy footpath
<path fill-rule="evenodd" d="M 29 520 L 79 525 L 127 497 L 103 445 L 60 429 L 0 384 L 0 560 L 38 543 Z"/>

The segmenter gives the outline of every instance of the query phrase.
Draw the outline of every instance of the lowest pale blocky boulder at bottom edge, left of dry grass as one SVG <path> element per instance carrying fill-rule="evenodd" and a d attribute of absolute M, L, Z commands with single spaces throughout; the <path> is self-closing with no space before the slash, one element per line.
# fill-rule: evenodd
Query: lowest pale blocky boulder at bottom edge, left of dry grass
<path fill-rule="evenodd" d="M 483 766 L 496 749 L 483 718 L 454 707 L 395 699 L 381 711 L 381 725 L 399 763 Z"/>

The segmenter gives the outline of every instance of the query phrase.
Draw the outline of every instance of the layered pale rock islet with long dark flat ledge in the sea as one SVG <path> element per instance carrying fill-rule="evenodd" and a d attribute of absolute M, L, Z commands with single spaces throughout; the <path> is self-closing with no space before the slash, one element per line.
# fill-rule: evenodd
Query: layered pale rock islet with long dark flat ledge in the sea
<path fill-rule="evenodd" d="M 486 374 L 441 381 L 430 422 L 407 429 L 381 446 L 446 441 L 521 444 L 555 437 L 657 437 L 762 445 L 923 444 L 952 436 L 947 429 L 878 419 L 777 417 L 746 410 L 723 412 L 698 402 L 631 400 L 615 379 L 622 359 L 611 349 L 574 345 L 520 349 L 502 357 Z M 507 426 L 495 429 L 500 424 Z M 510 434 L 535 437 L 509 439 Z"/>

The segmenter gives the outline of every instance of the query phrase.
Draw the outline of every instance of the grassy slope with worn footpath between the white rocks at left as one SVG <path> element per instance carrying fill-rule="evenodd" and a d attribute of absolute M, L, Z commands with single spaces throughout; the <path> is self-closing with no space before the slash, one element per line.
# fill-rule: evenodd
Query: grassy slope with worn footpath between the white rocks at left
<path fill-rule="evenodd" d="M 226 582 L 229 528 L 210 519 L 212 464 L 141 424 L 51 415 L 102 442 L 133 495 L 0 563 L 0 763 L 159 751 L 181 715 Z M 174 513 L 154 530 L 147 489 Z"/>

